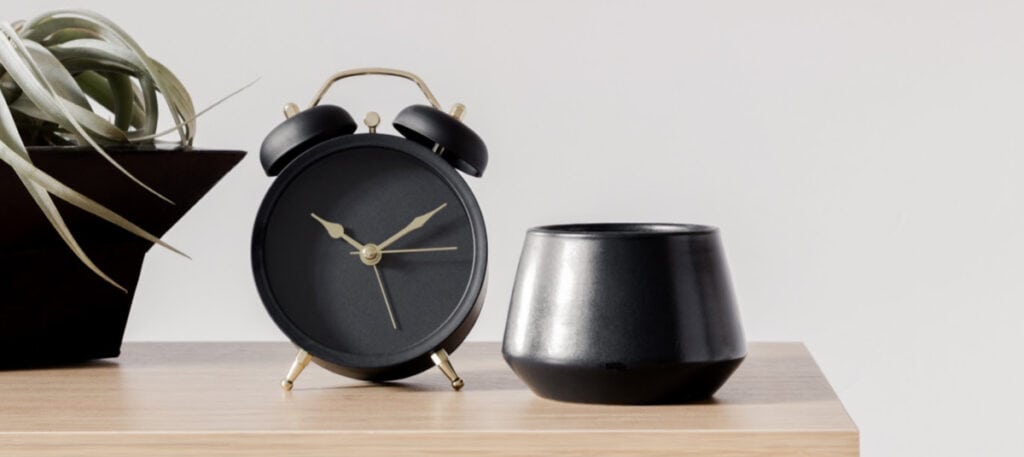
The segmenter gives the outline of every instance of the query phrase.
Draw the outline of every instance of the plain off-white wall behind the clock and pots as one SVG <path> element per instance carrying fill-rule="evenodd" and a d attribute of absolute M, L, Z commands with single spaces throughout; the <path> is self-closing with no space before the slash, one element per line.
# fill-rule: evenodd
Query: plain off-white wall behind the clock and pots
<path fill-rule="evenodd" d="M 502 336 L 524 231 L 722 227 L 751 340 L 802 340 L 864 455 L 1024 453 L 1024 3 L 7 1 L 88 7 L 207 105 L 199 143 L 255 153 L 331 73 L 391 66 L 463 101 L 492 162 L 472 339 Z M 389 120 L 412 85 L 329 100 Z M 255 155 L 154 250 L 131 340 L 278 340 L 249 266 Z"/>

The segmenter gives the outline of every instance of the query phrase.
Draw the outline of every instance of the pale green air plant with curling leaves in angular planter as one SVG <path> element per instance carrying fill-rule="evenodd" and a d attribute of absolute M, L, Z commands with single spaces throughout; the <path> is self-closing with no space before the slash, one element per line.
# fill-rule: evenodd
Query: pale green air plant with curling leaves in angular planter
<path fill-rule="evenodd" d="M 170 70 L 150 57 L 106 17 L 90 11 L 51 11 L 28 22 L 0 23 L 0 160 L 14 170 L 50 224 L 86 266 L 125 290 L 82 250 L 53 197 L 184 255 L 37 168 L 27 149 L 89 146 L 111 166 L 170 204 L 104 150 L 153 143 L 170 133 L 177 134 L 177 144 L 191 146 L 197 113 L 188 92 Z M 164 131 L 157 130 L 160 97 L 174 121 L 173 127 Z"/>

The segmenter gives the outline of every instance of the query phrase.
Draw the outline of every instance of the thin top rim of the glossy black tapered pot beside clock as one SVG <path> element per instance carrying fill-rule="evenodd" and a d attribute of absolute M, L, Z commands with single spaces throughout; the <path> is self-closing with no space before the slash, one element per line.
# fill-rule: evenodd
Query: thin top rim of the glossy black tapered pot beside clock
<path fill-rule="evenodd" d="M 587 222 L 535 226 L 526 233 L 571 238 L 646 238 L 712 235 L 718 233 L 718 227 L 672 222 Z"/>

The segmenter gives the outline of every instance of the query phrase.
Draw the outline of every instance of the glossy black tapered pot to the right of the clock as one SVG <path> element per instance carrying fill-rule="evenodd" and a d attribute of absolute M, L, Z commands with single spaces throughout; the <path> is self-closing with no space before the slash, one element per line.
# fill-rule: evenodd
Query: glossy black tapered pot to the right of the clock
<path fill-rule="evenodd" d="M 663 223 L 529 230 L 503 354 L 548 399 L 710 398 L 746 355 L 718 230 Z"/>

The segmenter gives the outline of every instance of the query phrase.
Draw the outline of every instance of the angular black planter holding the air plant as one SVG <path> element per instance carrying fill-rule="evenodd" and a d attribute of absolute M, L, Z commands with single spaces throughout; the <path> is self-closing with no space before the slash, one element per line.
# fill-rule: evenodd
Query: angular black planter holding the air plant
<path fill-rule="evenodd" d="M 36 166 L 158 237 L 245 156 L 157 148 L 109 152 L 175 204 L 139 188 L 88 148 L 30 149 Z M 125 293 L 79 261 L 4 164 L 0 199 L 0 368 L 117 357 L 152 243 L 54 198 L 79 244 Z"/>

